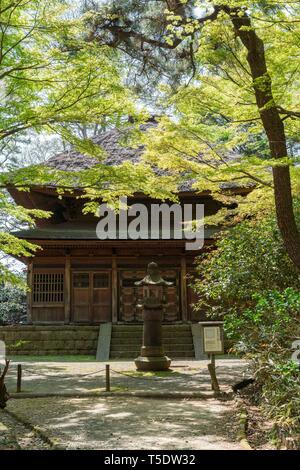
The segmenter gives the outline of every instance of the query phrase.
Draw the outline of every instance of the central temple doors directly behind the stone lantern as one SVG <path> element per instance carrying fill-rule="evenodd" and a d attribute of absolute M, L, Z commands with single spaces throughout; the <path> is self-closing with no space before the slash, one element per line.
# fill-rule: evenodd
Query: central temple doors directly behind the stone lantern
<path fill-rule="evenodd" d="M 161 274 L 166 281 L 172 281 L 174 286 L 167 288 L 167 303 L 163 309 L 163 322 L 174 322 L 180 318 L 180 285 L 179 271 L 162 269 Z M 143 270 L 121 270 L 119 272 L 119 321 L 135 323 L 142 321 L 142 310 L 136 307 L 142 294 L 142 287 L 135 287 L 135 281 L 145 276 Z"/>

